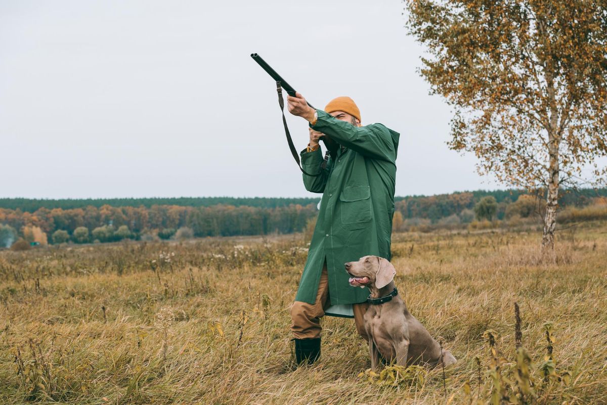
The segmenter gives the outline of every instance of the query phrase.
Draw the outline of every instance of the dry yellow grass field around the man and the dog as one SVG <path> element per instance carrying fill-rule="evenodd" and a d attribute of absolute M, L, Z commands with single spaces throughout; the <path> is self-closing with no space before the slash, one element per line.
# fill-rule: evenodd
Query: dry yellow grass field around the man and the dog
<path fill-rule="evenodd" d="M 378 375 L 342 318 L 322 321 L 320 361 L 291 369 L 306 242 L 1 251 L 0 403 L 607 402 L 606 224 L 561 232 L 549 256 L 535 231 L 395 235 L 396 285 L 458 363 Z"/>

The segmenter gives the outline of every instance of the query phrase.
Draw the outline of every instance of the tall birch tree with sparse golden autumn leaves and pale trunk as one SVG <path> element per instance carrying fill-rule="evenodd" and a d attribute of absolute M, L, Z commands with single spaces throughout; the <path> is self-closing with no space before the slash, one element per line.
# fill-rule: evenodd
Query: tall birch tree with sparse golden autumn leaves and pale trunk
<path fill-rule="evenodd" d="M 546 194 L 554 247 L 559 187 L 602 186 L 607 156 L 606 0 L 405 0 L 425 45 L 422 77 L 452 106 L 449 147 L 477 170 Z"/>

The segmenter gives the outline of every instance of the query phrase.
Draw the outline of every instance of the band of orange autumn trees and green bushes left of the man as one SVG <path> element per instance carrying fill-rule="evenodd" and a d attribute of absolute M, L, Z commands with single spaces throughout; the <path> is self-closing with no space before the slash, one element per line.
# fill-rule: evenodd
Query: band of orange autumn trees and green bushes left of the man
<path fill-rule="evenodd" d="M 0 209 L 0 224 L 23 234 L 36 227 L 47 235 L 58 230 L 77 236 L 75 242 L 114 241 L 155 235 L 170 238 L 178 229 L 191 229 L 192 236 L 266 235 L 298 232 L 316 215 L 316 205 L 286 207 L 247 206 L 182 207 L 87 206 L 84 209 L 39 208 L 33 213 L 21 209 Z M 85 234 L 86 231 L 86 234 Z M 120 232 L 118 232 L 120 231 Z"/>

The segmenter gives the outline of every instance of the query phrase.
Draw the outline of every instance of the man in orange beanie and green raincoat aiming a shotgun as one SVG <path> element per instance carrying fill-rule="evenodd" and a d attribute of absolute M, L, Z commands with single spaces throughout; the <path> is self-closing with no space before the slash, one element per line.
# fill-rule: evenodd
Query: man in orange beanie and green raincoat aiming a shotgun
<path fill-rule="evenodd" d="M 399 134 L 382 124 L 361 126 L 361 113 L 349 97 L 314 110 L 299 93 L 288 96 L 288 110 L 310 122 L 310 144 L 301 155 L 305 188 L 322 193 L 310 252 L 291 307 L 291 331 L 298 364 L 320 356 L 319 318 L 331 306 L 351 307 L 356 330 L 365 339 L 363 316 L 368 289 L 351 287 L 344 263 L 361 256 L 391 259 L 396 150 Z M 339 144 L 323 168 L 319 140 Z M 318 176 L 313 176 L 320 173 Z M 339 314 L 333 312 L 334 315 Z"/>

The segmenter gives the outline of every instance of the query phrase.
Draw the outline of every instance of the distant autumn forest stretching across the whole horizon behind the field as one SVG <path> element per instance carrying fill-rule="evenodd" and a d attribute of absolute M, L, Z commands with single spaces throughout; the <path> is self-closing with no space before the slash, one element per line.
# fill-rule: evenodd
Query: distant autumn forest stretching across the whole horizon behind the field
<path fill-rule="evenodd" d="M 531 215 L 532 198 L 520 190 L 458 192 L 395 198 L 396 212 L 409 223 L 465 223 L 475 205 L 491 197 L 495 219 Z M 561 190 L 561 207 L 584 207 L 607 197 L 607 189 Z M 235 236 L 293 233 L 316 217 L 319 198 L 116 198 L 0 199 L 5 240 L 87 243 L 177 236 Z M 531 202 L 530 202 L 531 201 Z M 531 204 L 531 208 L 530 208 Z M 478 215 L 476 215 L 478 217 Z M 478 218 L 477 218 L 478 219 Z M 8 236 L 6 236 L 8 235 Z M 10 246 L 7 242 L 6 246 Z"/>

